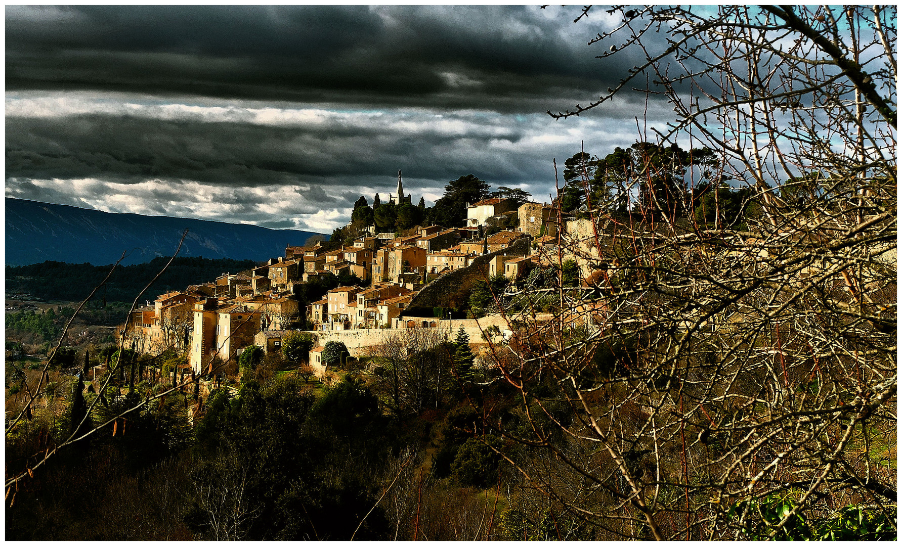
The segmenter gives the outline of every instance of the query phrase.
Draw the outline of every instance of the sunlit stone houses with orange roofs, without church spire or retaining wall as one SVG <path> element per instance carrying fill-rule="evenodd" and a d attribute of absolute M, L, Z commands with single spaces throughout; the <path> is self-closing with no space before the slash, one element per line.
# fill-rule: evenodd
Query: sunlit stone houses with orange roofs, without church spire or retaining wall
<path fill-rule="evenodd" d="M 280 350 L 282 337 L 302 322 L 312 332 L 391 328 L 422 287 L 471 267 L 476 259 L 488 260 L 490 275 L 516 278 L 526 273 L 538 264 L 538 252 L 509 255 L 505 250 L 529 248 L 526 243 L 540 250 L 536 245 L 557 241 L 551 210 L 492 198 L 467 207 L 465 227 L 421 227 L 407 237 L 364 235 L 334 250 L 321 243 L 289 246 L 284 256 L 249 274 L 224 273 L 184 292 L 159 296 L 136 310 L 120 333 L 142 352 L 187 351 L 189 366 L 199 373 L 216 360 L 234 359 L 250 345 Z M 487 227 L 507 229 L 485 235 Z M 299 285 L 329 273 L 354 274 L 369 280 L 370 287 L 336 287 L 301 308 Z"/>

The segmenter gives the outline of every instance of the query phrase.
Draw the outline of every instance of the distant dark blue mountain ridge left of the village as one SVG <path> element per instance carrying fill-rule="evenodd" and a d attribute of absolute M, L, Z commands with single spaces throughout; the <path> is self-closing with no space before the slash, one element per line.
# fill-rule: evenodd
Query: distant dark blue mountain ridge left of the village
<path fill-rule="evenodd" d="M 45 260 L 106 265 L 128 256 L 124 265 L 170 256 L 185 229 L 179 256 L 262 261 L 283 255 L 315 232 L 271 230 L 241 223 L 169 216 L 112 214 L 68 205 L 6 197 L 6 265 Z M 328 235 L 324 235 L 328 239 Z"/>

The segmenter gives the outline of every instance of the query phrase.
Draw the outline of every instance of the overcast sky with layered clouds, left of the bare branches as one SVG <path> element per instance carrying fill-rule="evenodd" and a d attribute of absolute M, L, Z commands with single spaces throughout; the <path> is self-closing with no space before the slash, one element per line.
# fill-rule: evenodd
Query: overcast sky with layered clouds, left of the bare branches
<path fill-rule="evenodd" d="M 399 169 L 414 203 L 471 173 L 547 201 L 552 159 L 673 117 L 640 94 L 546 114 L 635 60 L 596 59 L 619 16 L 580 12 L 8 5 L 6 196 L 318 232 L 387 200 Z"/>

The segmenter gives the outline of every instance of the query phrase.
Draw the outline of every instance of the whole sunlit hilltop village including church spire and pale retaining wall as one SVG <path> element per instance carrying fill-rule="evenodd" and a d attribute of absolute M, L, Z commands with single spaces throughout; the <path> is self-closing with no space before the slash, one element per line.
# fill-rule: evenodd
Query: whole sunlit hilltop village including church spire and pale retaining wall
<path fill-rule="evenodd" d="M 285 336 L 299 331 L 314 340 L 308 362 L 320 377 L 331 364 L 322 356 L 328 341 L 341 341 L 357 357 L 382 344 L 387 329 L 463 329 L 478 350 L 490 341 L 484 332 L 507 339 L 511 331 L 502 314 L 469 310 L 474 283 L 559 268 L 559 234 L 580 232 L 572 215 L 562 221 L 552 205 L 514 191 L 519 199 L 467 203 L 462 225 L 418 225 L 409 234 L 371 225 L 353 240 L 288 246 L 253 270 L 157 296 L 133 312 L 120 334 L 140 353 L 185 352 L 186 368 L 198 375 L 247 347 L 278 352 Z M 389 202 L 410 206 L 400 176 Z M 570 250 L 565 259 L 584 261 Z"/>

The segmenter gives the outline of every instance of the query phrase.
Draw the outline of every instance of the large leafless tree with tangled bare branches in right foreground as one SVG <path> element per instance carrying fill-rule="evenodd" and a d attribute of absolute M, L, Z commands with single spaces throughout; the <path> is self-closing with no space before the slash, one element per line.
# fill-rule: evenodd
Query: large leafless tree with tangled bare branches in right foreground
<path fill-rule="evenodd" d="M 666 98 L 674 123 L 640 140 L 713 150 L 681 182 L 704 178 L 717 214 L 656 199 L 615 214 L 586 176 L 588 231 L 547 259 L 590 274 L 554 290 L 555 320 L 514 325 L 528 335 L 499 359 L 530 425 L 486 423 L 553 453 L 544 470 L 509 461 L 607 538 L 731 539 L 756 520 L 786 537 L 844 505 L 895 514 L 896 8 L 609 14 L 621 23 L 590 43 L 644 61 L 553 115 L 633 86 Z M 764 521 L 776 497 L 787 508 Z"/>

